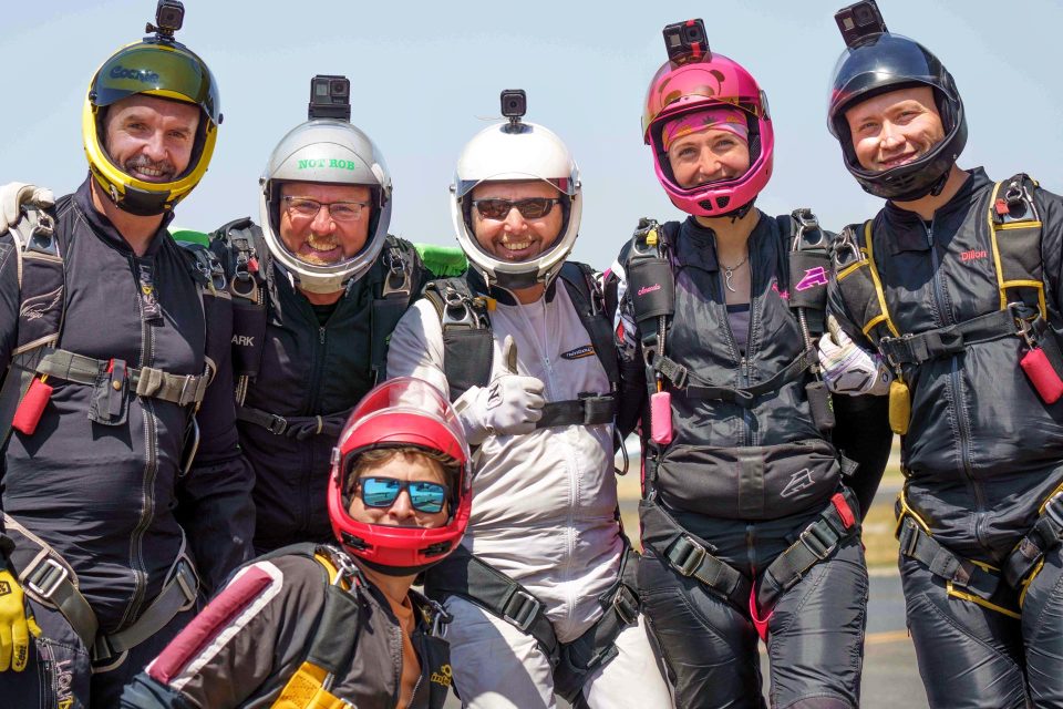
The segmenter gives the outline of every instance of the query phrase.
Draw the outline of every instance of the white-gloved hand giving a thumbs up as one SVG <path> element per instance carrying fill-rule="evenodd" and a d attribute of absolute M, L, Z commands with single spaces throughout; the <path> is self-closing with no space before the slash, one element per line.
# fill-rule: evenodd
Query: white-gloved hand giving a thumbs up
<path fill-rule="evenodd" d="M 543 418 L 543 382 L 517 373 L 517 346 L 506 336 L 502 346 L 505 373 L 486 387 L 472 387 L 455 402 L 469 445 L 488 435 L 530 433 Z"/>

